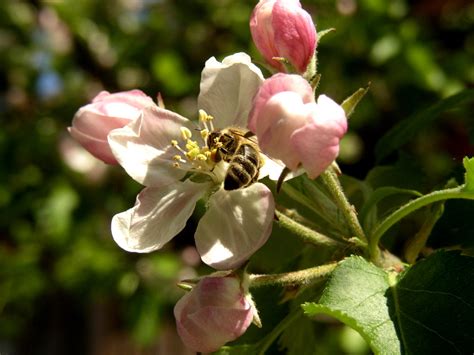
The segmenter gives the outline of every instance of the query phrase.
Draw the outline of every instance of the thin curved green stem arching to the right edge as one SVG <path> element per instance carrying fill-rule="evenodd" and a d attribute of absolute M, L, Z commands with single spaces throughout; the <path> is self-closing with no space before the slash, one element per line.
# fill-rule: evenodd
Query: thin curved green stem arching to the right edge
<path fill-rule="evenodd" d="M 463 198 L 468 200 L 474 200 L 474 192 L 463 191 L 464 185 L 451 188 L 434 191 L 428 195 L 424 195 L 415 200 L 411 200 L 405 205 L 401 206 L 387 218 L 385 218 L 373 231 L 370 241 L 369 241 L 369 252 L 373 261 L 376 261 L 379 256 L 378 244 L 380 238 L 384 233 L 392 227 L 399 220 L 409 215 L 413 211 L 416 211 L 419 208 L 425 207 L 433 202 L 449 200 L 454 198 Z"/>

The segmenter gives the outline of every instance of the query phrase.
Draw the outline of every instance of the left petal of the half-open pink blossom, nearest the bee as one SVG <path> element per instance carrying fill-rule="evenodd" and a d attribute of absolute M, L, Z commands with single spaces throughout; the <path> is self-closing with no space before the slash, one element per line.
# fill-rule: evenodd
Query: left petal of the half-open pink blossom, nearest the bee
<path fill-rule="evenodd" d="M 289 144 L 290 137 L 307 123 L 311 105 L 315 104 L 303 104 L 297 93 L 284 91 L 272 96 L 260 110 L 257 130 L 260 147 L 290 170 L 295 170 L 300 162 L 297 151 Z"/>

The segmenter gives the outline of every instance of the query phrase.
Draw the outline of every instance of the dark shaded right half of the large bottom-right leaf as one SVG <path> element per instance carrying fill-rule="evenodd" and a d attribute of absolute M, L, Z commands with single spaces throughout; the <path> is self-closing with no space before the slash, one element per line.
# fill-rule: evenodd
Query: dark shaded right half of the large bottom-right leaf
<path fill-rule="evenodd" d="M 407 354 L 474 352 L 474 258 L 440 251 L 405 272 L 389 297 Z"/>

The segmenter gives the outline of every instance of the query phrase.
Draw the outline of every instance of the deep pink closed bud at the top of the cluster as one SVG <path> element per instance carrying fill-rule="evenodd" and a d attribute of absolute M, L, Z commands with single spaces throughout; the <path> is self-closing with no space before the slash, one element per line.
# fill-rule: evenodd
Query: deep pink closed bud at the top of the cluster
<path fill-rule="evenodd" d="M 250 18 L 250 31 L 265 60 L 279 71 L 274 57 L 286 58 L 303 73 L 316 49 L 316 28 L 298 0 L 260 0 Z"/>

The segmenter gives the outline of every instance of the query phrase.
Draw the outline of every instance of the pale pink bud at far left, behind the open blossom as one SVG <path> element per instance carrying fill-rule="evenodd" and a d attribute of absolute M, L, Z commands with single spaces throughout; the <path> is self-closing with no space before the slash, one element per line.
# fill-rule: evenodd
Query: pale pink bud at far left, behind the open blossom
<path fill-rule="evenodd" d="M 92 103 L 76 112 L 69 133 L 93 156 L 107 164 L 117 164 L 107 141 L 109 132 L 140 116 L 143 108 L 155 105 L 140 90 L 110 94 L 100 92 Z"/>

